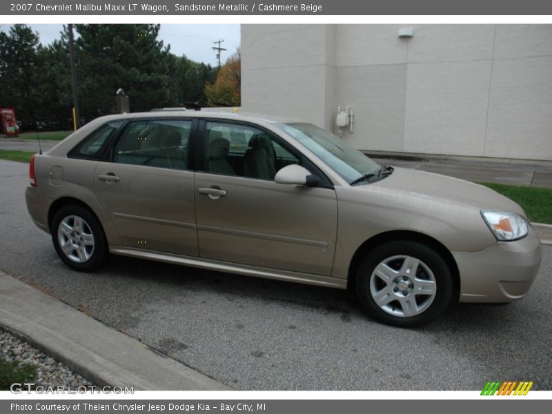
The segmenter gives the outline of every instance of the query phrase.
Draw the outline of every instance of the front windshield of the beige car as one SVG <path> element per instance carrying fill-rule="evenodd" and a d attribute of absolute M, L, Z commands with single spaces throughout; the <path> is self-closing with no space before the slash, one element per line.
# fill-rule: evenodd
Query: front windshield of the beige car
<path fill-rule="evenodd" d="M 381 166 L 335 135 L 312 124 L 277 124 L 322 159 L 349 184 L 375 175 Z"/>

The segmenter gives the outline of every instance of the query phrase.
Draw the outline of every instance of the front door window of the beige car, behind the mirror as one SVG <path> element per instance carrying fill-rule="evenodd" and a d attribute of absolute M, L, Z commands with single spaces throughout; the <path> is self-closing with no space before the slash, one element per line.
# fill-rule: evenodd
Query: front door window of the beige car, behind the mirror
<path fill-rule="evenodd" d="M 247 125 L 207 122 L 206 171 L 273 180 L 276 172 L 299 158 L 266 132 Z"/>

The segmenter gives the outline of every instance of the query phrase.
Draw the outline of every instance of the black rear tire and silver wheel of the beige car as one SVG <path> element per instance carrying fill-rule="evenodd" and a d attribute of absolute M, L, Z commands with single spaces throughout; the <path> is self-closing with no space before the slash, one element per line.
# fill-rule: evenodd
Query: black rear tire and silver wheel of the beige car
<path fill-rule="evenodd" d="M 73 219 L 70 217 L 73 217 Z M 58 232 L 62 221 L 69 224 L 73 223 L 74 225 L 76 218 L 80 218 L 83 222 L 81 225 L 81 233 L 77 231 L 77 233 L 72 232 L 75 233 L 75 235 L 72 236 L 66 234 L 63 234 L 63 236 L 59 235 Z M 61 207 L 57 210 L 52 219 L 50 233 L 52 234 L 52 242 L 54 243 L 57 255 L 63 263 L 73 270 L 78 270 L 79 272 L 91 272 L 92 270 L 99 268 L 99 266 L 104 264 L 108 259 L 108 244 L 106 242 L 106 236 L 103 233 L 103 229 L 101 228 L 101 224 L 95 215 L 90 213 L 90 210 L 86 208 L 75 205 Z M 90 239 L 84 238 L 89 237 L 89 235 L 92 235 L 93 237 L 92 246 L 83 246 L 83 250 L 79 253 L 80 249 L 77 248 L 77 245 L 90 242 Z M 63 239 L 68 241 L 70 237 L 77 237 L 78 242 L 77 244 L 67 245 L 67 249 L 69 250 L 72 248 L 72 250 L 66 254 L 63 252 L 61 242 Z M 77 260 L 80 262 L 77 262 Z"/>

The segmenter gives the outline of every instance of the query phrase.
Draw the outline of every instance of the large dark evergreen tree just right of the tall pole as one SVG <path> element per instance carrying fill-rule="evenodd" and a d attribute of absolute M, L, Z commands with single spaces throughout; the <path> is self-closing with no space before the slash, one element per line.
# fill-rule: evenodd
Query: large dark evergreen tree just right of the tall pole
<path fill-rule="evenodd" d="M 119 88 L 132 111 L 174 106 L 168 66 L 170 50 L 157 40 L 160 25 L 77 25 L 77 73 L 81 115 L 115 111 Z"/>

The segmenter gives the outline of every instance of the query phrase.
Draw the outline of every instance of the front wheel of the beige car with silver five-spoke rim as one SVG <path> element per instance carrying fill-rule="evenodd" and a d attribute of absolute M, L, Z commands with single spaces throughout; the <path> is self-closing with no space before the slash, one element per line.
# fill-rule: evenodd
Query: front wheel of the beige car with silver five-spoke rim
<path fill-rule="evenodd" d="M 403 270 L 408 268 L 407 261 L 415 263 L 416 259 L 420 263 L 413 277 L 412 270 Z M 379 265 L 384 267 L 378 270 L 383 269 L 391 279 L 375 275 Z M 425 244 L 408 240 L 371 250 L 357 269 L 355 287 L 360 304 L 374 319 L 404 328 L 427 324 L 453 302 L 453 275 L 443 257 Z"/>

